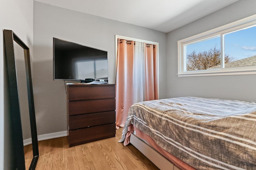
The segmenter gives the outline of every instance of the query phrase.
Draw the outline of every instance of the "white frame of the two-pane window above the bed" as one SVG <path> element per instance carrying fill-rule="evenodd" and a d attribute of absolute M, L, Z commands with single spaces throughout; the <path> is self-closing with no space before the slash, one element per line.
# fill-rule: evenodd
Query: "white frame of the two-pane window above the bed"
<path fill-rule="evenodd" d="M 219 76 L 219 75 L 244 75 L 244 74 L 256 74 L 256 66 L 240 66 L 240 67 L 232 67 L 232 68 L 223 68 L 221 64 L 220 69 L 212 69 L 212 70 L 195 70 L 195 71 L 186 71 L 186 53 L 185 45 L 189 43 L 194 43 L 196 41 L 203 41 L 204 39 L 210 37 L 220 36 L 221 41 L 221 60 L 224 61 L 224 34 L 231 33 L 246 27 L 250 27 L 252 25 L 256 25 L 256 15 L 244 18 L 242 20 L 238 20 L 227 25 L 223 25 L 221 27 L 212 29 L 210 31 L 206 31 L 204 33 L 200 33 L 198 35 L 194 35 L 192 37 L 188 37 L 178 41 L 178 77 L 184 76 Z M 222 62 L 221 62 L 222 63 Z"/>

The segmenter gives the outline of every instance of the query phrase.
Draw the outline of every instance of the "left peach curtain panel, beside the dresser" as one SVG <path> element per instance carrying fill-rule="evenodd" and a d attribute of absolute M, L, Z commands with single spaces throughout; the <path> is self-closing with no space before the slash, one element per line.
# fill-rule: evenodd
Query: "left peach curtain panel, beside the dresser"
<path fill-rule="evenodd" d="M 122 43 L 121 43 L 122 42 Z M 118 39 L 116 61 L 116 126 L 124 127 L 129 107 L 133 104 L 134 42 Z"/>

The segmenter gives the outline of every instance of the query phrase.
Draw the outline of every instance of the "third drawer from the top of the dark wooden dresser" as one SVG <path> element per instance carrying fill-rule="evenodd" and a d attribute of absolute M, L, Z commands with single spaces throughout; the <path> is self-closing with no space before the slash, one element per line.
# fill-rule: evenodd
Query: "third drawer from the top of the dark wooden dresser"
<path fill-rule="evenodd" d="M 116 112 L 92 113 L 68 117 L 69 130 L 106 125 L 116 122 Z"/>

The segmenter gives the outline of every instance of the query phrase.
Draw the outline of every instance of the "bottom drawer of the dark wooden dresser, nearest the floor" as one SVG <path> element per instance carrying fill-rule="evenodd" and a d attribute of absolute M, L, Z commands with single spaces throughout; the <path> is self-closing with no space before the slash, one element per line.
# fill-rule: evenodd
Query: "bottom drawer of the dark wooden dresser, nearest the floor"
<path fill-rule="evenodd" d="M 96 127 L 89 127 L 85 129 L 78 129 L 69 131 L 68 143 L 69 146 L 75 146 L 82 143 L 88 143 L 100 139 L 106 139 L 109 137 L 115 137 L 116 124 L 102 125 Z"/>

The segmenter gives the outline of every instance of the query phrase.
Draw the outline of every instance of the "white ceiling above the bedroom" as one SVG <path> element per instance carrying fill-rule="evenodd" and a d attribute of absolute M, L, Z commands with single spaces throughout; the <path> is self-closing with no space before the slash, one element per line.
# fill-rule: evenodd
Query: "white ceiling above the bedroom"
<path fill-rule="evenodd" d="M 38 2 L 170 32 L 238 0 L 35 0 Z"/>

